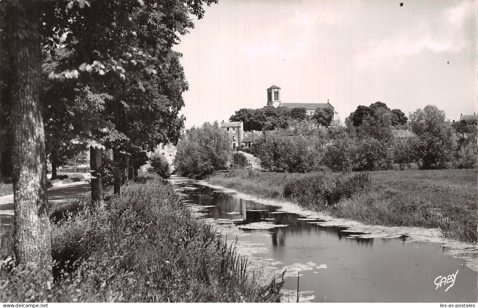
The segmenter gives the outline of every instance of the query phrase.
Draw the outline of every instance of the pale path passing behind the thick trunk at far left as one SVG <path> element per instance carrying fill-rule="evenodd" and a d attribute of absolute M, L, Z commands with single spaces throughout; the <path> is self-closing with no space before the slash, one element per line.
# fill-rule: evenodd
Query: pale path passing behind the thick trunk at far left
<path fill-rule="evenodd" d="M 48 202 L 50 204 L 81 199 L 88 195 L 91 190 L 89 183 L 75 182 L 60 184 L 48 188 Z M 13 227 L 13 195 L 0 197 L 0 224 L 1 228 Z"/>

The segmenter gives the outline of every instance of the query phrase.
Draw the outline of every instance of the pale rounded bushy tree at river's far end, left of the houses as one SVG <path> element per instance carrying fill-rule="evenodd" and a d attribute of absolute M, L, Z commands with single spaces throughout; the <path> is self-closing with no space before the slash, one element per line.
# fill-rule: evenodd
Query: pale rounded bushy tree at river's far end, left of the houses
<path fill-rule="evenodd" d="M 193 126 L 178 142 L 175 169 L 181 175 L 203 177 L 225 168 L 232 153 L 229 138 L 217 122 Z"/>

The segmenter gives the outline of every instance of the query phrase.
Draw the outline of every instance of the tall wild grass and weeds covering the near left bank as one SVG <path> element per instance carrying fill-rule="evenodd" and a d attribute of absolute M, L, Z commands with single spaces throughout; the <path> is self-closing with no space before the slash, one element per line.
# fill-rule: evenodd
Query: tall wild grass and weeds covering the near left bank
<path fill-rule="evenodd" d="M 257 285 L 247 259 L 195 219 L 172 186 L 158 176 L 143 182 L 103 205 L 53 205 L 53 281 L 3 261 L 2 302 L 279 300 L 283 279 Z M 5 244 L 2 260 L 11 255 L 11 239 Z"/>

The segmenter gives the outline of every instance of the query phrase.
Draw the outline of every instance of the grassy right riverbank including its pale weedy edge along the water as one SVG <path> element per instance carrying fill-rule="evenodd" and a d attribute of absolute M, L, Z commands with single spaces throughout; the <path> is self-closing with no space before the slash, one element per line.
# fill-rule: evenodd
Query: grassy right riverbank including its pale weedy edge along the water
<path fill-rule="evenodd" d="M 320 213 L 282 197 L 288 179 L 300 176 L 304 175 L 243 172 L 214 175 L 203 181 L 203 184 L 216 188 L 226 187 L 225 191 L 238 193 L 239 198 L 280 206 L 285 212 L 321 219 L 324 226 L 346 226 L 346 232 L 365 233 L 351 236 L 404 236 L 407 241 L 442 244 L 446 246 L 447 254 L 464 258 L 468 267 L 478 271 L 476 240 L 460 242 L 454 237 L 457 232 L 467 229 L 468 234 L 472 232 L 469 238 L 476 238 L 477 170 L 372 172 L 367 191 L 352 199 L 340 200 L 336 206 L 340 210 Z M 420 219 L 415 219 L 420 212 L 410 211 L 410 207 L 408 211 L 403 211 L 403 205 L 409 201 L 409 204 L 420 205 L 418 208 L 422 213 L 428 211 L 430 214 L 423 216 L 422 220 L 429 221 L 420 224 Z M 402 205 L 401 213 L 398 205 Z M 393 219 L 398 215 L 403 216 L 401 224 Z M 448 218 L 447 223 L 454 226 L 454 229 L 444 236 L 440 220 L 445 218 Z"/>

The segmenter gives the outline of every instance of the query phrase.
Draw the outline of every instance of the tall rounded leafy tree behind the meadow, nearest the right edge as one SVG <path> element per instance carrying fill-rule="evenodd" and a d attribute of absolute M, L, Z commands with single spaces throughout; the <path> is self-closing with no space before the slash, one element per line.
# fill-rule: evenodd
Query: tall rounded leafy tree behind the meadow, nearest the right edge
<path fill-rule="evenodd" d="M 411 140 L 411 152 L 421 169 L 445 168 L 456 148 L 455 133 L 445 122 L 445 112 L 427 105 L 410 113 L 410 125 L 416 137 Z"/>

